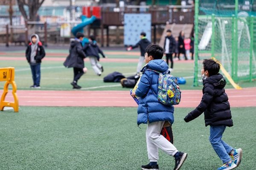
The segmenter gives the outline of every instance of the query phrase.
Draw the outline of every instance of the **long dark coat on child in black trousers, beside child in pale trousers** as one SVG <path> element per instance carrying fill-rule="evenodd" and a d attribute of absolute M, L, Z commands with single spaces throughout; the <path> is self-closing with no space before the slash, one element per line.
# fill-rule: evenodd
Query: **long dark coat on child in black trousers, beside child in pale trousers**
<path fill-rule="evenodd" d="M 82 44 L 78 40 L 74 40 L 70 43 L 69 55 L 67 56 L 63 65 L 67 68 L 84 68 L 84 54 Z"/>

